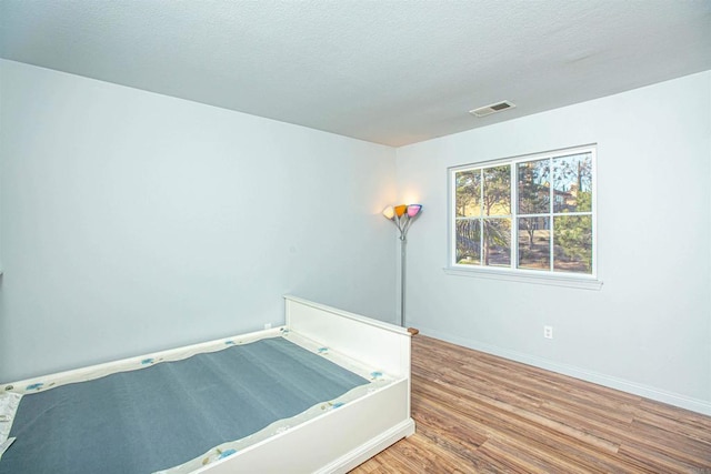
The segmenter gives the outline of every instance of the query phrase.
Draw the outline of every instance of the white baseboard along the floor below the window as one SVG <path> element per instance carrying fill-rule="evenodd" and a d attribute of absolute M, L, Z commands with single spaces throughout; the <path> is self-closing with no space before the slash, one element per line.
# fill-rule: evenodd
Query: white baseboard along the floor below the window
<path fill-rule="evenodd" d="M 584 380 L 587 382 L 597 383 L 610 389 L 620 390 L 622 392 L 640 395 L 645 399 L 654 400 L 670 405 L 679 406 L 681 409 L 691 410 L 697 413 L 711 416 L 711 402 L 693 399 L 690 396 L 681 395 L 673 392 L 655 389 L 653 386 L 639 384 L 635 382 L 627 381 L 624 379 L 618 379 L 610 375 L 601 374 L 598 372 L 588 371 L 577 367 L 574 365 L 560 364 L 558 362 L 550 361 L 543 357 L 537 357 L 529 354 L 524 354 L 508 349 L 501 349 L 494 345 L 483 344 L 477 341 L 464 340 L 462 337 L 451 336 L 443 334 L 439 331 L 430 330 L 427 327 L 418 327 L 424 335 L 448 341 L 453 344 L 470 347 L 477 351 L 485 352 L 488 354 L 498 355 L 500 357 L 509 359 L 523 364 L 533 365 L 539 369 L 545 369 L 551 372 L 557 372 L 563 375 L 570 375 L 575 379 Z"/>

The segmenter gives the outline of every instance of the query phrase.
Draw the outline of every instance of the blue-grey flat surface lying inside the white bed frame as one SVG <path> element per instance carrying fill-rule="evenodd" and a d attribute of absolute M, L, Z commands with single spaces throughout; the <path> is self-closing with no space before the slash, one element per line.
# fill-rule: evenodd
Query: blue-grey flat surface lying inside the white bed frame
<path fill-rule="evenodd" d="M 368 381 L 283 337 L 27 394 L 0 474 L 151 473 Z"/>

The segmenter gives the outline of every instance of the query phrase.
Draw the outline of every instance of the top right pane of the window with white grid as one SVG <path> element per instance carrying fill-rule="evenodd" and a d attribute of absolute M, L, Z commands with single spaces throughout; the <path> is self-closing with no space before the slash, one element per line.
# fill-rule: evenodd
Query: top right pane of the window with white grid
<path fill-rule="evenodd" d="M 553 212 L 592 211 L 592 154 L 553 159 Z"/>

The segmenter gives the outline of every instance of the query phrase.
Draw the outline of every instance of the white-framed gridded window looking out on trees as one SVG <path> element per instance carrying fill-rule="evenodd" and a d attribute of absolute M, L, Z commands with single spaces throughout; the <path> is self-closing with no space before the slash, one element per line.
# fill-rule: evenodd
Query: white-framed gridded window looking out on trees
<path fill-rule="evenodd" d="M 595 148 L 450 169 L 450 269 L 594 280 Z"/>

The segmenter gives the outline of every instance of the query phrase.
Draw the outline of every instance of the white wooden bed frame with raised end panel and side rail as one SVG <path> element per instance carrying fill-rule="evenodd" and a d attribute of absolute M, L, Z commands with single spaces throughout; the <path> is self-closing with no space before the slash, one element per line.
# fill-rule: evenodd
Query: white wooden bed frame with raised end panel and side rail
<path fill-rule="evenodd" d="M 288 330 L 382 371 L 394 382 L 193 473 L 346 473 L 414 433 L 410 417 L 410 333 L 400 326 L 299 297 L 284 299 L 286 325 L 264 330 L 266 335 Z M 111 364 L 114 363 L 100 365 Z M 22 383 L 27 382 L 31 381 Z"/>

